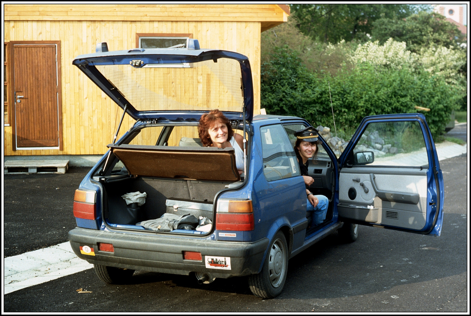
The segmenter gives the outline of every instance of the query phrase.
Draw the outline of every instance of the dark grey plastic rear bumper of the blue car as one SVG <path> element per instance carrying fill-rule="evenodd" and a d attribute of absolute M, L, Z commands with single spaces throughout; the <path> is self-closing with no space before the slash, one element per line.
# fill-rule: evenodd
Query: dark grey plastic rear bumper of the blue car
<path fill-rule="evenodd" d="M 74 253 L 90 263 L 135 270 L 188 275 L 211 273 L 214 277 L 240 277 L 260 272 L 268 238 L 256 242 L 228 242 L 187 237 L 158 236 L 75 228 L 69 231 Z M 114 252 L 98 250 L 98 243 L 113 244 Z M 93 255 L 83 254 L 88 245 Z M 201 252 L 202 261 L 183 259 L 184 251 Z M 206 268 L 205 256 L 230 258 L 230 270 Z"/>

